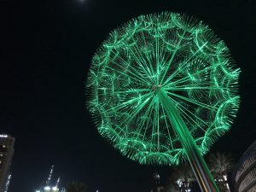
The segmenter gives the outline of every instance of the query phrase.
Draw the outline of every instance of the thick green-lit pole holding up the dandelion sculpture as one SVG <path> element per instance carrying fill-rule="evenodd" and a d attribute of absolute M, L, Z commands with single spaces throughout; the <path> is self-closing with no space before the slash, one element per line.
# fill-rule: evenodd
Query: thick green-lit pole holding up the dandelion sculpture
<path fill-rule="evenodd" d="M 219 192 L 218 187 L 209 171 L 205 160 L 203 159 L 199 149 L 196 147 L 194 138 L 191 136 L 189 129 L 183 118 L 178 113 L 172 100 L 166 94 L 166 90 L 159 88 L 157 90 L 160 103 L 165 108 L 165 111 L 172 123 L 173 129 L 176 131 L 180 142 L 183 145 L 185 153 L 189 159 L 189 163 L 192 166 L 195 177 L 200 185 L 202 192 Z"/>

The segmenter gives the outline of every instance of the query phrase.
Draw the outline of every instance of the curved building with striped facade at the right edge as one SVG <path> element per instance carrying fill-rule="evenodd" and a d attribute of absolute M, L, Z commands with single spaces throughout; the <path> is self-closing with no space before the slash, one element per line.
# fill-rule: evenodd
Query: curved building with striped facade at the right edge
<path fill-rule="evenodd" d="M 242 154 L 235 173 L 235 183 L 238 192 L 256 191 L 256 141 Z"/>

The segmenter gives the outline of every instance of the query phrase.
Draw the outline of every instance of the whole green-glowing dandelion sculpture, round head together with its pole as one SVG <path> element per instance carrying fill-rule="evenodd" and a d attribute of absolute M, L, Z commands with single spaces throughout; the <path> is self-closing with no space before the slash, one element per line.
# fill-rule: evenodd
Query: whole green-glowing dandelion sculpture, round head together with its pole
<path fill-rule="evenodd" d="M 218 191 L 201 154 L 230 129 L 239 106 L 229 49 L 185 15 L 139 16 L 110 33 L 87 88 L 98 131 L 132 160 L 188 159 L 203 191 Z"/>

